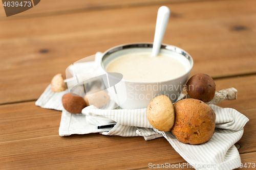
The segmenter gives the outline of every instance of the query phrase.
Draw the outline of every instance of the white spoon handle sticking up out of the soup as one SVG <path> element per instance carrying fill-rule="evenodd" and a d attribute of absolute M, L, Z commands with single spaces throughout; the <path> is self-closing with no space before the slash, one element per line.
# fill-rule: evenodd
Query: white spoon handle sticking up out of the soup
<path fill-rule="evenodd" d="M 169 16 L 170 10 L 168 7 L 162 6 L 158 9 L 152 56 L 157 56 L 160 51 Z"/>

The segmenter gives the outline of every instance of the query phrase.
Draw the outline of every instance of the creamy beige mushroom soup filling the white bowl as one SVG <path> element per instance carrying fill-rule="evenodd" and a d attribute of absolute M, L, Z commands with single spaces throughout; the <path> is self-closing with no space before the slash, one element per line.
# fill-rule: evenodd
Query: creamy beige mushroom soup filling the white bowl
<path fill-rule="evenodd" d="M 106 72 L 119 72 L 124 80 L 135 82 L 162 82 L 185 74 L 188 62 L 181 54 L 174 56 L 160 53 L 153 57 L 151 52 L 125 54 L 112 60 Z M 188 64 L 188 63 L 187 63 Z"/>

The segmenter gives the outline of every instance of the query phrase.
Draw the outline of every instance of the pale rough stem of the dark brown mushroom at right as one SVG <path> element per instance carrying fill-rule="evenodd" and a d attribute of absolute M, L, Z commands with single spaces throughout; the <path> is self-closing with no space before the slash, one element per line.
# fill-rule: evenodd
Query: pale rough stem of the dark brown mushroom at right
<path fill-rule="evenodd" d="M 206 104 L 218 104 L 225 100 L 235 100 L 237 99 L 238 90 L 235 88 L 225 88 L 215 92 L 214 99 Z M 188 99 L 190 96 L 188 94 L 183 95 L 181 99 Z"/>

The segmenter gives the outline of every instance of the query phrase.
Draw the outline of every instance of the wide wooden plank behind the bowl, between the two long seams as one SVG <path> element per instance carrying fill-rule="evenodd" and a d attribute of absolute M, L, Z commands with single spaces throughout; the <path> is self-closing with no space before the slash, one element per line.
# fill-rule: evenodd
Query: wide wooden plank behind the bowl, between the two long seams
<path fill-rule="evenodd" d="M 256 72 L 256 2 L 172 4 L 164 43 L 194 58 L 192 74 Z M 152 42 L 158 5 L 0 21 L 0 104 L 35 100 L 73 62 L 129 42 Z M 217 12 L 216 12 L 217 11 Z M 138 17 L 139 16 L 139 17 Z"/>

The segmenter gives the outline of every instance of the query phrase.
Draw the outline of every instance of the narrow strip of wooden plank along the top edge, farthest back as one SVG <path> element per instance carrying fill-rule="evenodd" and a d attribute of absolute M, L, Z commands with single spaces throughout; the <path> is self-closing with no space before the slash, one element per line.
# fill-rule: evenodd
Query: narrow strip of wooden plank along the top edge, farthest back
<path fill-rule="evenodd" d="M 92 10 L 102 9 L 114 9 L 114 8 L 128 8 L 135 6 L 148 6 L 148 5 L 165 5 L 172 3 L 184 3 L 184 2 L 195 2 L 195 1 L 209 1 L 209 0 L 98 0 L 98 1 L 80 1 L 80 0 L 51 0 L 40 1 L 40 3 L 34 8 L 25 12 L 6 17 L 4 7 L 0 6 L 0 20 L 8 19 L 22 19 L 24 17 L 37 17 L 45 15 L 56 15 L 66 13 L 77 13 Z"/>

